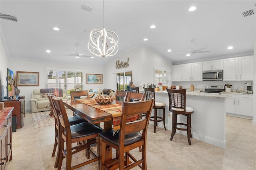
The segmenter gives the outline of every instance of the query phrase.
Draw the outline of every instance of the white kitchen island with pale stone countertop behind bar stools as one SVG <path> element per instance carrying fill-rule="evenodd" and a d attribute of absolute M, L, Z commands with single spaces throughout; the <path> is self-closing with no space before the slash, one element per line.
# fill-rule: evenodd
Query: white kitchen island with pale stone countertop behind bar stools
<path fill-rule="evenodd" d="M 193 138 L 221 148 L 226 148 L 225 99 L 229 96 L 230 95 L 228 94 L 200 93 L 199 91 L 187 92 L 186 105 L 194 109 L 194 113 L 191 116 L 191 132 Z M 167 92 L 156 92 L 156 101 L 166 103 L 166 128 L 171 130 L 172 113 L 168 116 L 169 98 Z M 161 116 L 162 113 L 160 112 L 159 114 Z M 177 117 L 177 121 L 180 123 L 186 123 L 186 117 L 179 115 Z M 163 127 L 161 122 L 158 124 L 158 126 Z M 177 130 L 176 132 L 186 135 L 186 131 Z"/>

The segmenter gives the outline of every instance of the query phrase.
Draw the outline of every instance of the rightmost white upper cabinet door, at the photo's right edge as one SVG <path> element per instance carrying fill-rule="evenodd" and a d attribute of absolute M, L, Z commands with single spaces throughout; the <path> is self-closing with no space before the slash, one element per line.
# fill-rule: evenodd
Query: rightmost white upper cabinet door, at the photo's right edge
<path fill-rule="evenodd" d="M 253 56 L 238 58 L 239 80 L 253 80 Z"/>

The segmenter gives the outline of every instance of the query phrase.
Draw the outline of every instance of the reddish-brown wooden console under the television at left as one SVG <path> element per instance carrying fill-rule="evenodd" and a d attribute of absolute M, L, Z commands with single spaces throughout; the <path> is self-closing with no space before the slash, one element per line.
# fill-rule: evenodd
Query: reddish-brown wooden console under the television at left
<path fill-rule="evenodd" d="M 4 107 L 14 107 L 12 116 L 16 116 L 17 125 L 16 128 L 22 128 L 24 126 L 24 114 L 21 113 L 21 100 L 18 101 L 4 101 Z"/>

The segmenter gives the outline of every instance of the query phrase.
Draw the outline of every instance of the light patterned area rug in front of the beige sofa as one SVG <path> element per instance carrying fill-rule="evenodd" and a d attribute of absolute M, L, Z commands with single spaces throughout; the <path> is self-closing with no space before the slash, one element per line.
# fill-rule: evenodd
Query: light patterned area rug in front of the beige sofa
<path fill-rule="evenodd" d="M 66 109 L 68 117 L 73 115 L 70 109 Z M 34 128 L 46 127 L 54 125 L 54 117 L 49 116 L 50 111 L 32 113 Z"/>

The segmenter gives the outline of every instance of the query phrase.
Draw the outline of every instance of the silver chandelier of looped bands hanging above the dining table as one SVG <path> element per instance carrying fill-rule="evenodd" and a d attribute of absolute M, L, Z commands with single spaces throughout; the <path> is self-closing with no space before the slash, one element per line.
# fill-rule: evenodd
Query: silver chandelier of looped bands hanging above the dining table
<path fill-rule="evenodd" d="M 88 49 L 96 56 L 113 56 L 118 51 L 118 36 L 113 31 L 106 31 L 104 28 L 104 0 L 103 0 L 103 29 L 94 29 L 90 33 Z"/>

